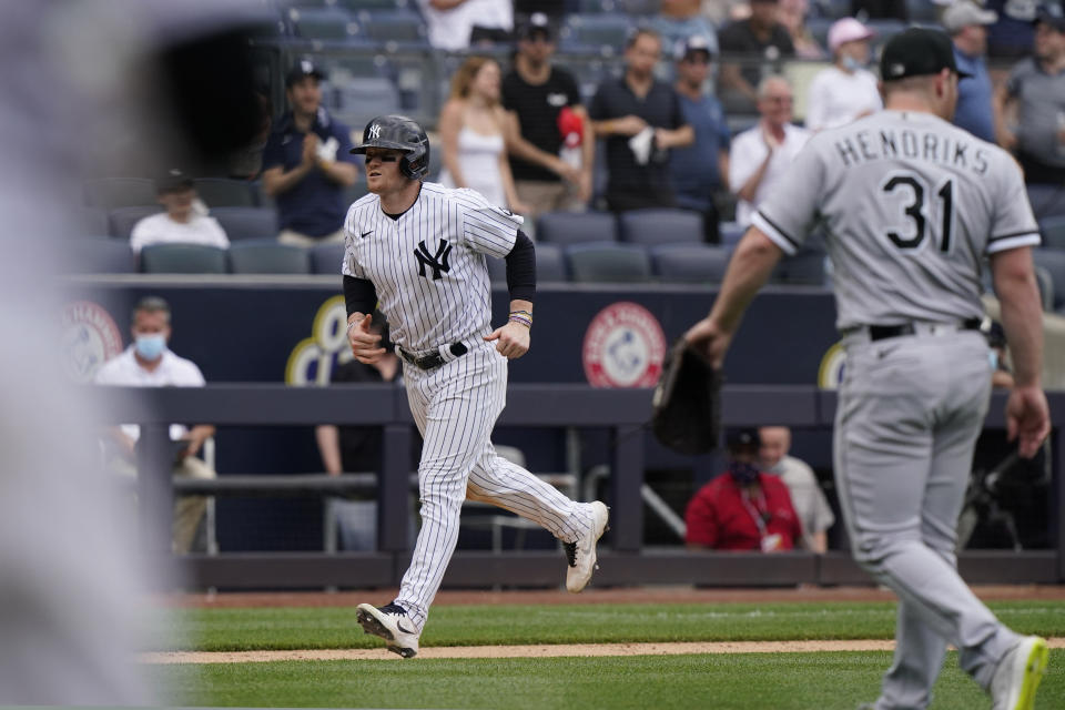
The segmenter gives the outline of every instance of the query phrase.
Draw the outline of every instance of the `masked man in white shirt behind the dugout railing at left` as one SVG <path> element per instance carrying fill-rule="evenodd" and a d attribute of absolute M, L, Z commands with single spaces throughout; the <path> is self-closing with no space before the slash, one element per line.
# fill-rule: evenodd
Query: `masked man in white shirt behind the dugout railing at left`
<path fill-rule="evenodd" d="M 158 296 L 148 296 L 133 308 L 133 343 L 121 355 L 111 358 L 97 372 L 99 385 L 124 387 L 202 387 L 203 374 L 195 363 L 179 357 L 166 344 L 170 341 L 170 305 Z M 109 430 L 108 464 L 121 475 L 136 476 L 136 442 L 140 427 L 123 424 Z M 196 455 L 203 443 L 214 436 L 214 427 L 199 424 L 191 429 L 181 424 L 170 426 L 175 442 L 175 476 L 214 478 L 215 473 Z M 200 521 L 206 510 L 206 498 L 186 496 L 174 503 L 173 550 L 184 555 L 192 549 Z"/>

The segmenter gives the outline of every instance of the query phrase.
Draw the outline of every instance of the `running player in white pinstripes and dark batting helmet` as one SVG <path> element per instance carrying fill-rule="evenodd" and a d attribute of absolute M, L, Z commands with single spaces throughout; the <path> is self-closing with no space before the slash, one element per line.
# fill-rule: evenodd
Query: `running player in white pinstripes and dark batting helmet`
<path fill-rule="evenodd" d="M 529 349 L 536 260 L 523 219 L 471 190 L 423 182 L 429 142 L 414 121 L 378 116 L 353 153 L 366 155 L 369 193 L 344 222 L 342 273 L 347 334 L 355 357 L 384 349 L 371 332 L 378 303 L 403 359 L 407 399 L 424 445 L 418 465 L 422 529 L 399 596 L 358 605 L 358 622 L 412 658 L 458 539 L 465 498 L 535 520 L 559 538 L 569 559 L 566 587 L 585 588 L 607 507 L 575 503 L 496 455 L 489 437 L 507 394 L 507 359 Z M 510 316 L 491 327 L 485 257 L 506 258 Z"/>

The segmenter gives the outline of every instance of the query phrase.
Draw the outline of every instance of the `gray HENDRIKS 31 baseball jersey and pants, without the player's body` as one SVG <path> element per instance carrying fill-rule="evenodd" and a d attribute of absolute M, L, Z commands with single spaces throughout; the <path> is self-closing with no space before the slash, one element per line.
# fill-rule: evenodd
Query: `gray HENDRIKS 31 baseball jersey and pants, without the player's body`
<path fill-rule="evenodd" d="M 986 688 L 1018 638 L 957 575 L 954 549 L 991 390 L 982 262 L 1038 231 L 1008 154 L 900 111 L 814 136 L 753 219 L 789 254 L 816 222 L 846 351 L 836 485 L 855 559 L 900 597 L 876 708 L 923 708 L 947 643 Z"/>

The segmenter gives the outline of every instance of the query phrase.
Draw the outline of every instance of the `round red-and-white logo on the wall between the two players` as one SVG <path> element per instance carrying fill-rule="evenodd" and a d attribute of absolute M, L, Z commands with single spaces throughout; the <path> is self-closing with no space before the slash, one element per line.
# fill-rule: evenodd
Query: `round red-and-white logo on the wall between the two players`
<path fill-rule="evenodd" d="M 665 357 L 662 326 L 637 303 L 610 304 L 585 333 L 585 376 L 594 387 L 653 387 Z"/>

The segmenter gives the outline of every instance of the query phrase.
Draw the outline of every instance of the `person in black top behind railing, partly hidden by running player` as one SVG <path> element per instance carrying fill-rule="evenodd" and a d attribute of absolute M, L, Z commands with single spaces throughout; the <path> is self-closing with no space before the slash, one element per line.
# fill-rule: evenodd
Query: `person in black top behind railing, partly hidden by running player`
<path fill-rule="evenodd" d="M 379 335 L 385 354 L 373 365 L 357 359 L 337 363 L 329 382 L 333 384 L 394 383 L 400 377 L 399 357 L 388 341 L 385 316 L 375 312 L 371 332 Z M 315 439 L 325 473 L 339 476 L 383 470 L 381 427 L 336 426 L 322 424 L 315 428 Z M 413 463 L 417 464 L 417 455 Z M 339 525 L 341 541 L 346 550 L 373 550 L 377 546 L 376 505 L 365 500 L 341 498 L 334 505 Z"/>

